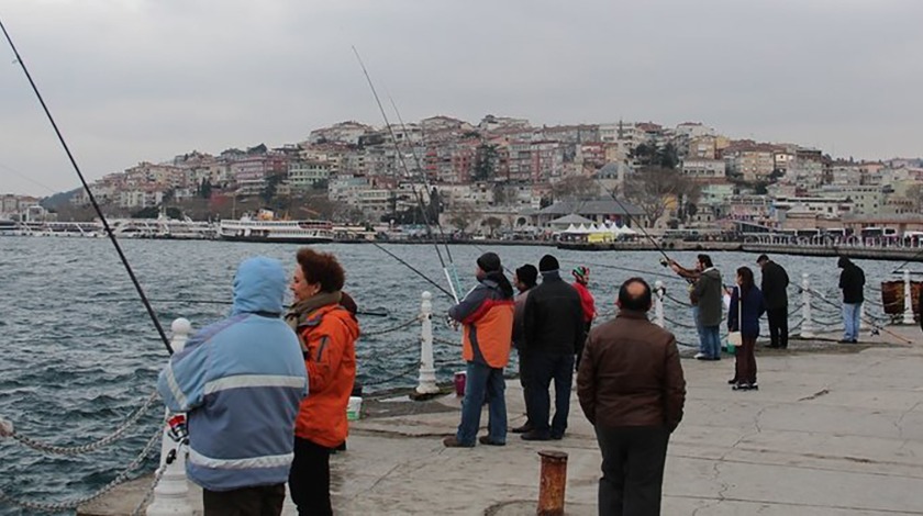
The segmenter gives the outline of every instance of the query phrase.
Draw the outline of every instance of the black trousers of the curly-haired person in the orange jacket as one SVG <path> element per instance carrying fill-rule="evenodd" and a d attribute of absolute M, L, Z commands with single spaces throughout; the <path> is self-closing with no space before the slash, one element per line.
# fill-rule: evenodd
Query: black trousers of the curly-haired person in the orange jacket
<path fill-rule="evenodd" d="M 330 516 L 330 448 L 294 438 L 294 460 L 289 471 L 291 501 L 299 516 Z"/>

